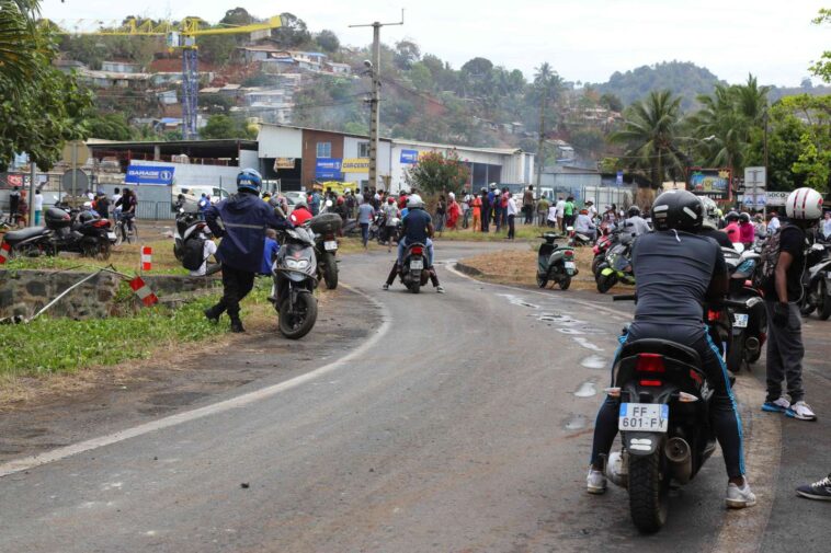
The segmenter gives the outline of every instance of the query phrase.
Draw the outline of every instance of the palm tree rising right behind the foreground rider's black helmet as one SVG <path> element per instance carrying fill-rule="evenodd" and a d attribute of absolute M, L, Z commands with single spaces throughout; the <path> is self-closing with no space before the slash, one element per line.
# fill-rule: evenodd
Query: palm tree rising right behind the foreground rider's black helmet
<path fill-rule="evenodd" d="M 681 169 L 684 155 L 679 148 L 681 96 L 669 90 L 651 91 L 625 112 L 624 128 L 611 136 L 612 141 L 624 143 L 624 159 L 631 169 L 648 171 L 652 189 L 658 189 L 670 169 Z M 651 203 L 652 192 L 639 191 L 639 203 Z"/>

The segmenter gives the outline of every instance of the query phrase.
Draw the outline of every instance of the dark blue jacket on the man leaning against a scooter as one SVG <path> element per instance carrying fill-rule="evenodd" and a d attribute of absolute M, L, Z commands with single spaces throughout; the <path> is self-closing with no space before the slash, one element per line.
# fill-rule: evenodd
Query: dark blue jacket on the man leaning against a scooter
<path fill-rule="evenodd" d="M 221 219 L 221 227 L 218 219 Z M 249 273 L 259 273 L 262 267 L 265 229 L 292 227 L 259 196 L 248 193 L 237 193 L 208 207 L 205 221 L 214 235 L 223 239 L 216 258 L 237 270 Z"/>

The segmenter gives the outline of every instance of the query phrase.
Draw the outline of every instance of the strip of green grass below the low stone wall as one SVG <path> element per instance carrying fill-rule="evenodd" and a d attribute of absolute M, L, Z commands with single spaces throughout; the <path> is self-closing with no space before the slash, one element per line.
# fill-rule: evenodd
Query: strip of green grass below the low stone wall
<path fill-rule="evenodd" d="M 133 316 L 73 321 L 38 318 L 29 324 L 0 326 L 0 375 L 37 376 L 145 359 L 159 347 L 224 334 L 202 310 L 216 301 L 203 297 L 178 310 L 144 309 Z"/>

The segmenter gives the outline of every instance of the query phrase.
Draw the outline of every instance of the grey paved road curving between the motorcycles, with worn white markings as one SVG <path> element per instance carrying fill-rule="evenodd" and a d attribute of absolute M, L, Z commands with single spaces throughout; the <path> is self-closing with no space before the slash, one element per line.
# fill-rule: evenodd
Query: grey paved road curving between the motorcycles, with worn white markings
<path fill-rule="evenodd" d="M 443 246 L 440 261 L 470 247 Z M 625 493 L 583 488 L 597 391 L 630 308 L 444 268 L 445 296 L 382 292 L 388 262 L 342 264 L 343 281 L 383 303 L 371 347 L 0 479 L 0 551 L 699 552 L 794 540 L 827 551 L 827 506 L 794 499 L 777 480 L 790 472 L 775 472 L 774 454 L 790 428 L 758 412 L 754 378 L 742 379 L 740 401 L 760 507 L 725 512 L 714 458 L 673 495 L 667 528 L 640 537 Z M 815 525 L 812 538 L 788 532 L 797 518 Z"/>

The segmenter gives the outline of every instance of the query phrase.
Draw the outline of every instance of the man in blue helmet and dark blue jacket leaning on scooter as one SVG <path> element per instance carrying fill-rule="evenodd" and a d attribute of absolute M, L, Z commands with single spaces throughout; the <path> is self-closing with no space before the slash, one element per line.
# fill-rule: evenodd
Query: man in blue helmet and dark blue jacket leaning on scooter
<path fill-rule="evenodd" d="M 205 316 L 219 321 L 227 311 L 231 332 L 246 332 L 239 319 L 239 302 L 254 286 L 265 244 L 265 229 L 287 229 L 292 223 L 277 217 L 274 209 L 260 199 L 262 176 L 253 169 L 237 175 L 237 194 L 205 210 L 205 221 L 215 237 L 221 238 L 216 258 L 223 264 L 223 298 L 205 310 Z"/>

